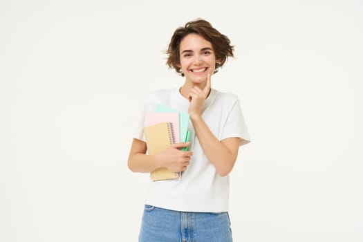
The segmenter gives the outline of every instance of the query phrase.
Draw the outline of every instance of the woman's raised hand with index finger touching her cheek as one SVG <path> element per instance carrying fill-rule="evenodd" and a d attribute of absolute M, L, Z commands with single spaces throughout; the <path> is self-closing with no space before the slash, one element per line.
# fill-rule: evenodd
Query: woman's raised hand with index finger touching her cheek
<path fill-rule="evenodd" d="M 188 94 L 189 97 L 189 109 L 188 113 L 190 118 L 197 117 L 201 115 L 202 106 L 204 104 L 205 99 L 207 99 L 208 95 L 210 94 L 210 77 L 211 74 L 207 75 L 207 84 L 205 88 L 202 90 L 198 88 L 198 86 L 192 87 L 190 93 Z"/>

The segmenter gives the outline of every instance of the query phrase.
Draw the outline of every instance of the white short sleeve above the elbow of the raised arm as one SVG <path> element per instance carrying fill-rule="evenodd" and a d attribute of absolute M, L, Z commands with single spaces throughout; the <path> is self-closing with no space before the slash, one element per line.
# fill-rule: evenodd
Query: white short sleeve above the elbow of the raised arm
<path fill-rule="evenodd" d="M 235 100 L 234 104 L 232 105 L 232 109 L 227 115 L 227 119 L 225 120 L 225 124 L 223 126 L 221 140 L 236 137 L 240 138 L 240 146 L 250 142 L 250 135 L 245 125 L 245 120 L 243 118 L 238 98 Z"/>

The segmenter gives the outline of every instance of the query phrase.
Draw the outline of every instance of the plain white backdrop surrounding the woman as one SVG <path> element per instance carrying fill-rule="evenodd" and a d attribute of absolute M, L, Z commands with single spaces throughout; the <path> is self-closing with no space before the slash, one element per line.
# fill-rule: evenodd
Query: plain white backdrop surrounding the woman
<path fill-rule="evenodd" d="M 230 175 L 234 241 L 363 241 L 361 1 L 1 1 L 0 241 L 137 241 L 127 169 L 145 93 L 183 84 L 163 51 L 197 17 L 235 59 L 252 142 Z"/>

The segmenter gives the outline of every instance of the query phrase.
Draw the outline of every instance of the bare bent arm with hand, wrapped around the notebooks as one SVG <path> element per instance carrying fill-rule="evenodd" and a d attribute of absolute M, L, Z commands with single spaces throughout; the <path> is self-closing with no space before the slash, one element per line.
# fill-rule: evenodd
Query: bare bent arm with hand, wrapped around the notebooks
<path fill-rule="evenodd" d="M 171 171 L 185 171 L 189 165 L 192 151 L 180 151 L 189 143 L 177 143 L 157 155 L 147 155 L 147 145 L 144 141 L 133 139 L 127 165 L 133 172 L 149 173 L 160 167 L 167 167 Z"/>

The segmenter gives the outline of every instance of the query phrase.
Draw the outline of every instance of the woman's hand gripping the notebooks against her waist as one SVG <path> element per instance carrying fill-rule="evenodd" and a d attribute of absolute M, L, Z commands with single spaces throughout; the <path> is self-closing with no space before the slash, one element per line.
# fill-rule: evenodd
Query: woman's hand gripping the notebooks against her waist
<path fill-rule="evenodd" d="M 180 151 L 180 148 L 187 146 L 189 146 L 189 142 L 176 143 L 165 149 L 162 153 L 157 154 L 156 158 L 160 162 L 160 167 L 166 167 L 174 172 L 185 171 L 193 152 Z"/>

